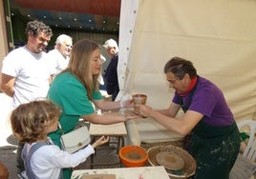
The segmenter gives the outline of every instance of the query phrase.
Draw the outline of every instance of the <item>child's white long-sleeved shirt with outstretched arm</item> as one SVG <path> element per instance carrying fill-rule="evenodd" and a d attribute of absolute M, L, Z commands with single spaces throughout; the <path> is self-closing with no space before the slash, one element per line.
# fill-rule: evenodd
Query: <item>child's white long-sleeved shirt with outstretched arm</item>
<path fill-rule="evenodd" d="M 34 144 L 32 143 L 32 145 Z M 32 145 L 26 143 L 24 149 L 29 152 Z M 95 153 L 95 149 L 91 145 L 73 154 L 63 151 L 55 145 L 42 146 L 32 154 L 32 171 L 40 179 L 57 178 L 61 169 L 75 168 L 93 153 Z"/>

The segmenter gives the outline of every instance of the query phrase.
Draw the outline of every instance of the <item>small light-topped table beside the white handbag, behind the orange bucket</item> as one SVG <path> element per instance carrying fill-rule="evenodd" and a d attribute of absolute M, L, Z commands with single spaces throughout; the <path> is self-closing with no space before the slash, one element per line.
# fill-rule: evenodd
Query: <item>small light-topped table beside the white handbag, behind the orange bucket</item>
<path fill-rule="evenodd" d="M 117 142 L 110 141 L 110 143 L 117 144 L 117 154 L 119 149 L 124 146 L 124 137 L 127 136 L 127 130 L 125 128 L 124 123 L 117 123 L 112 125 L 90 124 L 89 132 L 92 138 L 92 143 L 95 142 L 96 138 L 102 135 L 117 137 Z M 116 163 L 96 164 L 94 161 L 94 155 L 91 155 L 91 169 L 93 169 L 94 166 L 110 166 L 110 165 L 118 165 L 118 164 L 120 164 L 119 158 L 118 158 L 118 162 Z"/>

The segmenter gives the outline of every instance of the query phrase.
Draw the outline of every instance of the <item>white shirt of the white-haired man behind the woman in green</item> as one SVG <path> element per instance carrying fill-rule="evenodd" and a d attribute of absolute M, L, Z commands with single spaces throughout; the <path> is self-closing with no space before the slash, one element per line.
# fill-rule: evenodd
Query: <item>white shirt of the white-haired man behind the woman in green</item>
<path fill-rule="evenodd" d="M 53 62 L 53 67 L 55 68 L 55 73 L 59 73 L 61 70 L 64 70 L 68 67 L 70 57 L 66 58 L 58 51 L 51 50 L 47 53 L 48 58 Z"/>

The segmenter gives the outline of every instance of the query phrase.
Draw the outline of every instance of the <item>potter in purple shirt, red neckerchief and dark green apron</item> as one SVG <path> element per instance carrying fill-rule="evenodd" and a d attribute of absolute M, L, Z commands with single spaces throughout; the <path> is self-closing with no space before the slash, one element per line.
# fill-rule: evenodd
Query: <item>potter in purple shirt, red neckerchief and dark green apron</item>
<path fill-rule="evenodd" d="M 197 162 L 195 179 L 228 179 L 240 148 L 240 136 L 224 94 L 198 76 L 192 62 L 174 57 L 164 66 L 175 95 L 167 109 L 141 106 L 139 114 L 151 117 L 166 129 L 189 136 L 186 148 Z M 175 118 L 179 109 L 181 119 Z"/>

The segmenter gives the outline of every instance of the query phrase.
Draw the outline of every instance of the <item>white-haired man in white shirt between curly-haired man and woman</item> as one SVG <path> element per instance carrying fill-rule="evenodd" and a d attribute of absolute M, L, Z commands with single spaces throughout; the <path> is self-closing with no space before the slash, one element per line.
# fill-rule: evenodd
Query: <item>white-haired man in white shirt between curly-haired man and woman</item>
<path fill-rule="evenodd" d="M 48 52 L 48 58 L 53 62 L 55 73 L 59 73 L 68 67 L 70 61 L 70 53 L 73 47 L 72 37 L 61 34 L 55 41 L 55 48 Z"/>

